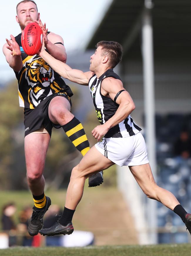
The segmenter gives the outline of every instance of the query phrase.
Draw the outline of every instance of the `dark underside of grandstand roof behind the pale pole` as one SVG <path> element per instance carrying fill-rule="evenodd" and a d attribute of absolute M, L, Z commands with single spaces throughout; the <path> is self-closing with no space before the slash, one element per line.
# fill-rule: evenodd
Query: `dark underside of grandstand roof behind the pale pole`
<path fill-rule="evenodd" d="M 140 52 L 141 14 L 143 0 L 113 0 L 88 42 L 87 49 L 95 48 L 101 40 L 118 41 L 124 52 Z M 191 53 L 191 1 L 155 0 L 152 9 L 154 51 L 166 54 Z M 130 50 L 130 51 L 129 51 Z"/>

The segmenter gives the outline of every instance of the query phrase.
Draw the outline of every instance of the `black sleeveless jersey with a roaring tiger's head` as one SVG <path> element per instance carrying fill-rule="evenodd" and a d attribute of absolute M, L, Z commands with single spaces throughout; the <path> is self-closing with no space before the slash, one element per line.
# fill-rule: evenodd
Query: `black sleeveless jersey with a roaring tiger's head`
<path fill-rule="evenodd" d="M 21 45 L 21 34 L 15 37 L 21 49 L 23 68 L 15 72 L 18 80 L 20 107 L 34 109 L 42 100 L 54 93 L 73 95 L 61 76 L 43 58 L 28 56 Z"/>

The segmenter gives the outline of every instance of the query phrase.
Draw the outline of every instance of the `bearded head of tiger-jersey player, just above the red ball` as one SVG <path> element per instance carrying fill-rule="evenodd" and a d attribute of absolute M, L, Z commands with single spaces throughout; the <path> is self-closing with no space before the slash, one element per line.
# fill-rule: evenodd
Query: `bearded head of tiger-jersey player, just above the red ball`
<path fill-rule="evenodd" d="M 17 7 L 16 21 L 19 23 L 21 30 L 24 30 L 30 22 L 38 20 L 40 14 L 37 12 L 36 4 L 32 2 L 21 3 Z"/>

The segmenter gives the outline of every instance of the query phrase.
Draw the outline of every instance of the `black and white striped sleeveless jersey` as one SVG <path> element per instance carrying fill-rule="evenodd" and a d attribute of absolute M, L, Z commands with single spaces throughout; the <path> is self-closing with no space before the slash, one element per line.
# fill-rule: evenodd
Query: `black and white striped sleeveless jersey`
<path fill-rule="evenodd" d="M 106 97 L 101 94 L 101 82 L 106 77 L 114 77 L 115 79 L 121 80 L 120 77 L 113 72 L 113 69 L 108 69 L 99 78 L 94 74 L 88 83 L 93 104 L 96 108 L 97 118 L 101 124 L 104 124 L 108 119 L 110 119 L 119 107 L 119 105 L 111 100 L 110 97 Z M 140 131 L 141 128 L 133 122 L 133 119 L 129 115 L 118 125 L 112 127 L 104 137 L 122 138 L 132 136 Z"/>

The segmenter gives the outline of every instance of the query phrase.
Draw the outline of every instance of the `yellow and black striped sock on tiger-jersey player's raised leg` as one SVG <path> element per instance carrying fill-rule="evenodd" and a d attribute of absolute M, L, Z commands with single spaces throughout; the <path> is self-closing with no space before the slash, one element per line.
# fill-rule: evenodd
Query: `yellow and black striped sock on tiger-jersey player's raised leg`
<path fill-rule="evenodd" d="M 66 125 L 63 125 L 62 128 L 76 149 L 84 156 L 90 150 L 90 144 L 80 121 L 74 117 Z"/>

